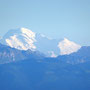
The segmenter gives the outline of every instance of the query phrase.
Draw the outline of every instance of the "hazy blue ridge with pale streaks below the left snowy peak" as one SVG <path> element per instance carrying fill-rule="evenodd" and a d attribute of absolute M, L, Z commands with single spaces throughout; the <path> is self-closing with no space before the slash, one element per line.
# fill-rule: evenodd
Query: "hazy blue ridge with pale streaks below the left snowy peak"
<path fill-rule="evenodd" d="M 28 58 L 41 59 L 43 57 L 44 55 L 38 51 L 18 50 L 18 49 L 0 44 L 0 64 L 26 60 Z"/>

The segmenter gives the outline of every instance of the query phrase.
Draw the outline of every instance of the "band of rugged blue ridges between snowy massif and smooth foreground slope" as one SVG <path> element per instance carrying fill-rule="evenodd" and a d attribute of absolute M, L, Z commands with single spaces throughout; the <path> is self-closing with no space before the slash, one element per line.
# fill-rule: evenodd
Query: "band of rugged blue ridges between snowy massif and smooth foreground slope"
<path fill-rule="evenodd" d="M 84 63 L 90 61 L 90 46 L 83 46 L 77 52 L 69 55 L 59 55 L 57 57 L 47 57 L 39 51 L 18 50 L 10 46 L 0 44 L 0 63 L 9 63 L 19 60 L 39 59 L 39 60 L 52 60 L 57 59 L 69 64 Z"/>

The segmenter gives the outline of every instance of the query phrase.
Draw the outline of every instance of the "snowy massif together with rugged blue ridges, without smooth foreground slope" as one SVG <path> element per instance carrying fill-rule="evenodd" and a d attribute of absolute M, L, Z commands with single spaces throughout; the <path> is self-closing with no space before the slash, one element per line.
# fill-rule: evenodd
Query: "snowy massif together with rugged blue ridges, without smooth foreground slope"
<path fill-rule="evenodd" d="M 77 64 L 90 59 L 89 46 L 80 46 L 66 38 L 51 39 L 26 28 L 8 31 L 0 42 L 0 63 L 56 57 L 57 60 Z"/>

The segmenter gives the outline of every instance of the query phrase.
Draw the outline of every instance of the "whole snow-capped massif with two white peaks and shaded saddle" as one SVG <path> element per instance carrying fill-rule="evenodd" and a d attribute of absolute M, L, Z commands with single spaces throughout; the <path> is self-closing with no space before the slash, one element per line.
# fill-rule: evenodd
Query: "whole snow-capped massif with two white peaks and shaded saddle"
<path fill-rule="evenodd" d="M 19 50 L 38 50 L 47 56 L 71 54 L 81 46 L 68 39 L 52 39 L 43 34 L 32 32 L 26 28 L 8 31 L 1 39 L 1 43 Z"/>

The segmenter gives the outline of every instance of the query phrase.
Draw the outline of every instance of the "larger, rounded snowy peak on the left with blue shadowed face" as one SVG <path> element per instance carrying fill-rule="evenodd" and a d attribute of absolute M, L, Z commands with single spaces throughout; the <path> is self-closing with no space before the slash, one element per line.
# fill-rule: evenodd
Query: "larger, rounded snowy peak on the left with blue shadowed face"
<path fill-rule="evenodd" d="M 36 49 L 33 44 L 36 41 L 35 33 L 26 28 L 10 30 L 3 39 L 4 44 L 12 48 L 17 48 L 19 50 Z"/>

